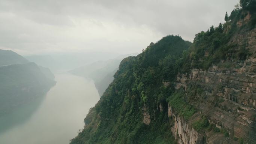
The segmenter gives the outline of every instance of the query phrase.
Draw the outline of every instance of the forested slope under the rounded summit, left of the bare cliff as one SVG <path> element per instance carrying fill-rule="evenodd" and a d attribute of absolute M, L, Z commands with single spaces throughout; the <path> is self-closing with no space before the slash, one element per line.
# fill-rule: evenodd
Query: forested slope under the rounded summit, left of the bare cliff
<path fill-rule="evenodd" d="M 179 64 L 176 59 L 179 59 L 183 50 L 188 49 L 190 45 L 190 42 L 179 36 L 167 36 L 156 44 L 152 43 L 140 55 L 122 60 L 114 81 L 86 117 L 85 124 L 88 126 L 71 143 L 174 142 L 170 125 L 162 125 L 163 121 L 167 121 L 167 115 L 158 113 L 158 120 L 146 126 L 142 123 L 141 109 L 145 104 L 155 102 L 156 95 L 170 91 L 161 87 L 162 79 L 173 79 L 172 75 L 174 76 L 177 70 L 170 69 Z M 141 100 L 143 96 L 146 98 Z"/>

